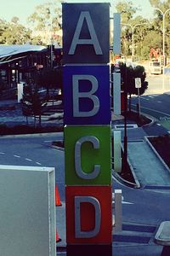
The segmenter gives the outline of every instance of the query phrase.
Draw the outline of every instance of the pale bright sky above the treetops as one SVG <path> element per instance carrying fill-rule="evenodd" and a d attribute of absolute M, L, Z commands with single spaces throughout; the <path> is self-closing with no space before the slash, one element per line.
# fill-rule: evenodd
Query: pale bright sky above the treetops
<path fill-rule="evenodd" d="M 132 1 L 132 0 L 131 0 Z M 31 15 L 36 6 L 42 3 L 48 3 L 50 0 L 0 0 L 0 19 L 10 21 L 12 17 L 17 16 L 20 18 L 20 23 L 26 26 L 26 20 Z M 110 2 L 113 6 L 116 6 L 118 0 L 65 0 L 66 3 L 108 3 Z M 142 12 L 139 15 L 143 15 L 147 18 L 151 18 L 153 10 L 151 9 L 149 0 L 133 0 L 133 5 L 142 8 Z"/>

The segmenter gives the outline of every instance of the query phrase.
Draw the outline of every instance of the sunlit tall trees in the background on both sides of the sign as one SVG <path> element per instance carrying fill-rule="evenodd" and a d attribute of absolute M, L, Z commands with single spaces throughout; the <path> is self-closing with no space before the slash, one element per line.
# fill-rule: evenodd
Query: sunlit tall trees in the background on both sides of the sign
<path fill-rule="evenodd" d="M 61 2 L 62 0 L 49 0 L 37 5 L 35 11 L 28 17 L 30 29 L 21 25 L 17 16 L 14 16 L 10 22 L 0 19 L 0 44 L 47 45 L 49 41 L 51 43 L 51 40 L 53 41 L 57 37 L 56 40 L 61 44 L 61 37 L 57 36 L 57 32 L 62 26 Z M 117 1 L 116 11 L 121 13 L 122 24 L 126 24 L 126 26 L 122 26 L 122 55 L 132 56 L 132 42 L 134 55 L 138 59 L 149 60 L 151 48 L 160 48 L 162 54 L 163 15 L 161 11 L 163 13 L 167 11 L 165 15 L 165 51 L 166 55 L 170 56 L 170 10 L 168 10 L 170 0 L 150 0 L 150 5 L 155 9 L 152 20 L 137 15 L 139 7 L 135 6 L 133 1 Z"/>

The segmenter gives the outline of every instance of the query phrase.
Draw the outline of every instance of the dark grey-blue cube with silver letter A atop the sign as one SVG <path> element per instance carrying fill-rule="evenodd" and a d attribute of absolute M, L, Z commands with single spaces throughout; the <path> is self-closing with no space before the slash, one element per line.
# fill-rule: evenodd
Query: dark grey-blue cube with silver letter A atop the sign
<path fill-rule="evenodd" d="M 63 63 L 110 61 L 110 3 L 63 3 Z"/>

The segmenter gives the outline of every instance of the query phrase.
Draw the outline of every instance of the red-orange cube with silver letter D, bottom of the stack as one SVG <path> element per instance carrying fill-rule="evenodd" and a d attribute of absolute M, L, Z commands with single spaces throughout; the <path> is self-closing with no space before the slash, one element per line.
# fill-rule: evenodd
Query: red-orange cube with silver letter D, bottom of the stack
<path fill-rule="evenodd" d="M 111 244 L 111 195 L 111 186 L 65 188 L 68 244 Z"/>

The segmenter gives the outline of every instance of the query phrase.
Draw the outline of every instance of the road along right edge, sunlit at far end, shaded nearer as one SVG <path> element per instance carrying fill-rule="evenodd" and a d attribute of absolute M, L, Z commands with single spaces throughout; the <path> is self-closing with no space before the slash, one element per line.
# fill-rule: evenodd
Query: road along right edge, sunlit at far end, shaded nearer
<path fill-rule="evenodd" d="M 147 76 L 146 80 L 149 82 L 149 86 L 144 95 L 140 96 L 140 110 L 141 113 L 156 119 L 156 123 L 144 131 L 148 135 L 161 135 L 170 131 L 170 77 L 152 75 Z M 133 96 L 132 108 L 135 110 L 137 102 L 138 97 Z"/>

